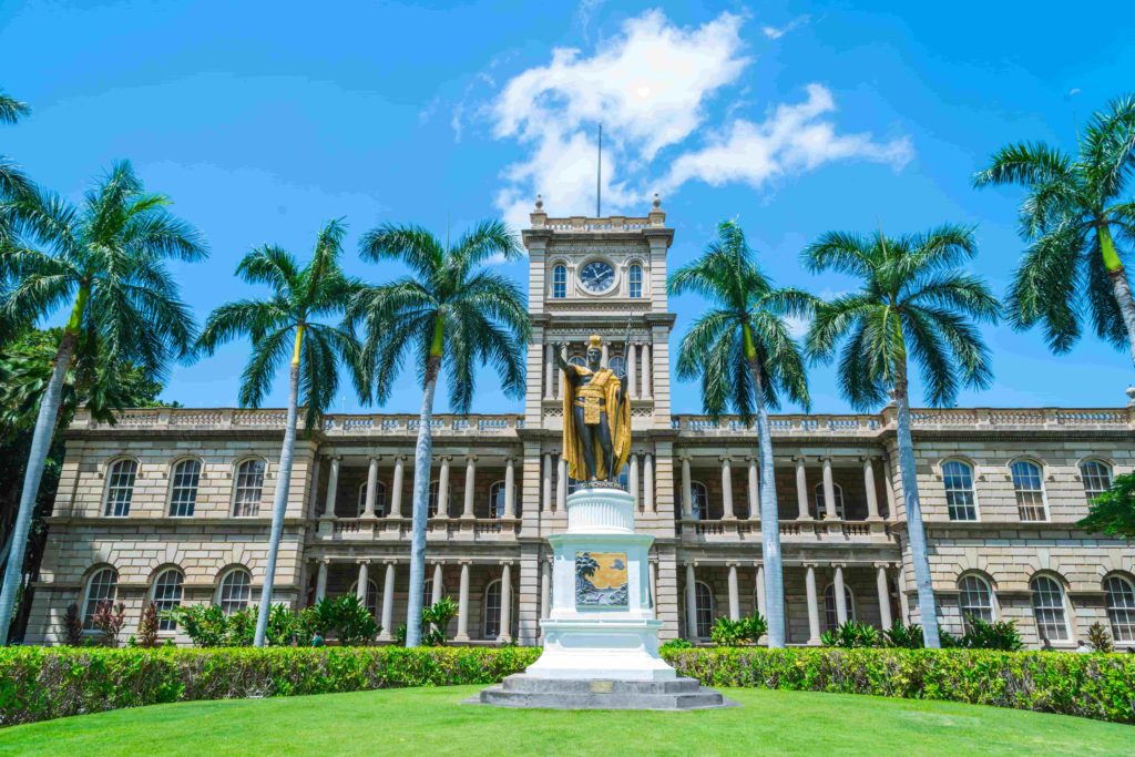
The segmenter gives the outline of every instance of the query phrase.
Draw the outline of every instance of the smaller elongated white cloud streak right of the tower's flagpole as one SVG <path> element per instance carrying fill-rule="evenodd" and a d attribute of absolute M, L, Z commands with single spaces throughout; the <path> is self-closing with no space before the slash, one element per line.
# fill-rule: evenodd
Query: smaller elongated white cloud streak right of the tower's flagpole
<path fill-rule="evenodd" d="M 809 84 L 804 102 L 779 106 L 759 124 L 739 118 L 711 135 L 700 150 L 676 158 L 662 190 L 672 191 L 691 179 L 712 186 L 743 182 L 759 187 L 784 174 L 849 158 L 899 169 L 914 157 L 907 137 L 876 142 L 869 134 L 840 134 L 831 120 L 823 118 L 834 110 L 832 93 L 819 84 Z"/>

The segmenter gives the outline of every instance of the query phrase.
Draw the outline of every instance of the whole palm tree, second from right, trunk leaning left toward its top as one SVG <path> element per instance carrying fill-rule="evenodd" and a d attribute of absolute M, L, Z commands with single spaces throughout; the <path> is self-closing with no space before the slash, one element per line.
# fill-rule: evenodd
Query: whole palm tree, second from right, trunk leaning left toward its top
<path fill-rule="evenodd" d="M 842 394 L 858 410 L 883 404 L 888 393 L 898 405 L 902 496 L 927 647 L 939 647 L 940 640 L 910 438 L 907 363 L 917 364 L 932 405 L 951 405 L 962 385 L 990 385 L 989 350 L 974 321 L 995 322 L 998 301 L 981 278 L 960 268 L 976 253 L 973 229 L 950 225 L 898 238 L 833 232 L 804 251 L 813 272 L 831 269 L 860 280 L 857 292 L 816 310 L 807 351 L 830 360 L 847 336 L 839 363 Z"/>

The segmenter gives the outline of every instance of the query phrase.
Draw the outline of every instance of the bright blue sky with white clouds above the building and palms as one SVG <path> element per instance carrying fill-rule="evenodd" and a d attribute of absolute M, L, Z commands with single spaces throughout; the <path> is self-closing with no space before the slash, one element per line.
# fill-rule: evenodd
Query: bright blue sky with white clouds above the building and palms
<path fill-rule="evenodd" d="M 253 245 L 306 255 L 346 217 L 438 233 L 594 209 L 594 131 L 605 124 L 604 210 L 642 212 L 655 191 L 676 228 L 671 267 L 737 219 L 766 270 L 817 294 L 799 251 L 829 229 L 977 225 L 974 268 L 1003 292 L 1022 251 L 1016 191 L 969 176 L 1012 140 L 1070 148 L 1093 109 L 1135 86 L 1126 2 L 1061 3 L 19 2 L 0 3 L 0 87 L 33 116 L 0 152 L 77 197 L 111 161 L 208 236 L 179 266 L 200 318 L 249 292 L 232 274 Z M 507 272 L 524 280 L 524 266 Z M 703 303 L 672 301 L 674 343 Z M 1119 405 L 1123 353 L 1086 337 L 1050 356 L 1039 333 L 986 330 L 995 386 L 972 405 Z M 247 344 L 173 370 L 166 397 L 234 405 Z M 482 412 L 516 411 L 485 377 Z M 812 373 L 815 412 L 847 404 Z M 388 410 L 413 412 L 406 375 Z M 269 399 L 281 404 L 284 381 Z M 444 405 L 444 401 L 440 403 Z M 358 409 L 344 390 L 336 410 Z M 675 412 L 697 412 L 675 386 Z M 443 410 L 444 407 L 439 407 Z"/>

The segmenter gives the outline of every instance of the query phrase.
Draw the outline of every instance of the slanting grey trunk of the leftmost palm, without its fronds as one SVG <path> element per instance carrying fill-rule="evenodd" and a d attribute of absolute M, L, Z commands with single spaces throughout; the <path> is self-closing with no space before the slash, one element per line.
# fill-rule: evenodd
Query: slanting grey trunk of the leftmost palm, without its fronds
<path fill-rule="evenodd" d="M 51 438 L 54 436 L 56 421 L 59 418 L 59 404 L 64 393 L 64 381 L 70 368 L 72 356 L 78 345 L 78 329 L 73 323 L 82 318 L 86 296 L 81 291 L 76 300 L 75 312 L 56 351 L 54 367 L 51 380 L 43 399 L 40 401 L 40 413 L 35 419 L 35 431 L 32 434 L 32 449 L 27 455 L 27 470 L 24 472 L 24 490 L 19 496 L 19 511 L 16 524 L 11 531 L 11 553 L 8 555 L 8 567 L 3 573 L 3 589 L 0 589 L 0 646 L 8 644 L 8 626 L 11 624 L 12 611 L 16 605 L 16 594 L 19 591 L 20 574 L 24 571 L 24 552 L 27 548 L 27 531 L 32 525 L 32 513 L 35 499 L 40 494 L 40 480 L 43 478 L 43 466 L 51 451 Z M 78 313 L 76 317 L 75 313 Z"/>

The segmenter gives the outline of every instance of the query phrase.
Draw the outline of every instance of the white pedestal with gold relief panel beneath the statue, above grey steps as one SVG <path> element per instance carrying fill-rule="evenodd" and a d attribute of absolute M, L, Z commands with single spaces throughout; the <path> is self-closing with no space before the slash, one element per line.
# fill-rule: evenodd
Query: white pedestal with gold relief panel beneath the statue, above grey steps
<path fill-rule="evenodd" d="M 552 608 L 540 620 L 544 654 L 527 671 L 540 679 L 673 681 L 658 656 L 658 629 L 648 565 L 654 537 L 634 532 L 634 498 L 616 488 L 568 497 L 568 531 L 548 538 L 555 553 Z M 577 563 L 596 561 L 580 579 Z M 625 591 L 616 588 L 625 569 Z M 595 581 L 598 590 L 588 588 Z M 581 586 L 582 581 L 582 586 Z"/>

